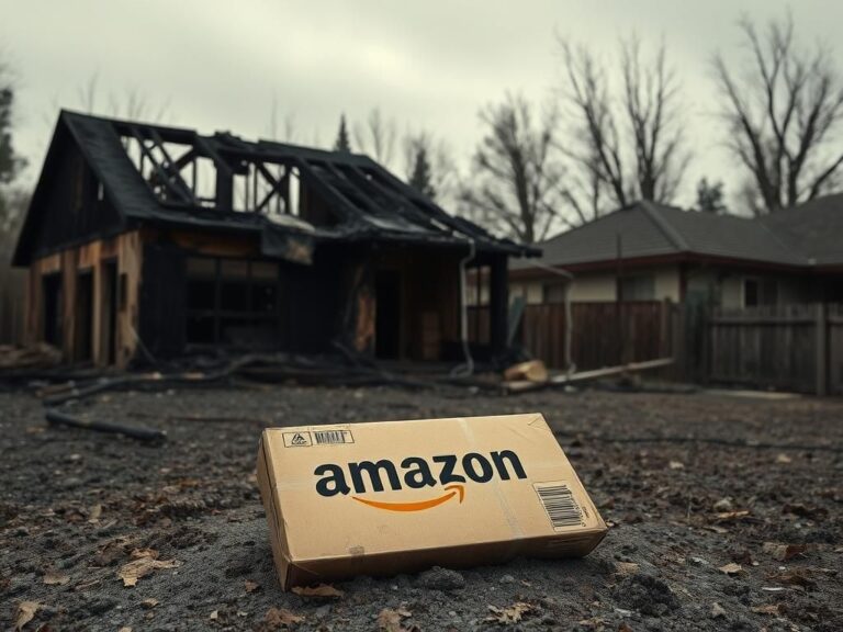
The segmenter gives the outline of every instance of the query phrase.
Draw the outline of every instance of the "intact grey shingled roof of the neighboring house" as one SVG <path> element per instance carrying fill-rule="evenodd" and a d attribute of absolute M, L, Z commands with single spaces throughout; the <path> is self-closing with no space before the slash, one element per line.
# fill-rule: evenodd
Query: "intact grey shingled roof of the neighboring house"
<path fill-rule="evenodd" d="M 787 268 L 843 266 L 843 195 L 762 218 L 636 202 L 538 244 L 544 266 L 597 267 L 623 260 L 707 259 Z M 620 252 L 619 252 L 620 250 Z M 514 262 L 528 269 L 529 262 Z"/>

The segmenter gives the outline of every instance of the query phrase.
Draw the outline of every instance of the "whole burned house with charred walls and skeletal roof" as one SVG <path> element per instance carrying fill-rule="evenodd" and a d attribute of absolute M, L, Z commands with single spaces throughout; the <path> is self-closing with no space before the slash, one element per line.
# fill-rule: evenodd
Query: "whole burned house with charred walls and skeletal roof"
<path fill-rule="evenodd" d="M 126 366 L 192 349 L 461 357 L 464 270 L 507 338 L 507 258 L 361 155 L 63 111 L 13 262 L 31 342 Z"/>

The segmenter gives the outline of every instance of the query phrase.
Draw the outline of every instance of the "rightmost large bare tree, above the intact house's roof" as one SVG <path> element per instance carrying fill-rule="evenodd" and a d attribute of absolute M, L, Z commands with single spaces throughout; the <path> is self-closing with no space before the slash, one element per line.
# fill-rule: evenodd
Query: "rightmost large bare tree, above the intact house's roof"
<path fill-rule="evenodd" d="M 713 75 L 728 125 L 727 146 L 748 169 L 755 214 L 773 213 L 836 190 L 843 84 L 829 50 L 797 46 L 790 15 L 758 33 L 739 23 L 751 60 L 737 77 L 721 54 Z"/>

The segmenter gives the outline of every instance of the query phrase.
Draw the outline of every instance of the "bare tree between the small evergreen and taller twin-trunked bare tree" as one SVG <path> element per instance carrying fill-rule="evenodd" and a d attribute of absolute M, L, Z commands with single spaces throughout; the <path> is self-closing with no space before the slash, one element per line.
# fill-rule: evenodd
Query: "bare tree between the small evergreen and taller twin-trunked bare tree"
<path fill-rule="evenodd" d="M 555 110 L 536 121 L 520 95 L 481 111 L 486 125 L 473 159 L 472 187 L 463 202 L 490 228 L 531 244 L 544 239 L 559 216 L 563 171 L 554 158 Z"/>

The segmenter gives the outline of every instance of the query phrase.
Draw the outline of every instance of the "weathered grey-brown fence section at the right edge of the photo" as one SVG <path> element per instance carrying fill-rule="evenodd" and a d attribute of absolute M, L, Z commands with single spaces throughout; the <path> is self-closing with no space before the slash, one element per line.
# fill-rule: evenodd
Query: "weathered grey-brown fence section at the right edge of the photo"
<path fill-rule="evenodd" d="M 843 305 L 715 308 L 706 328 L 712 382 L 843 394 Z"/>

